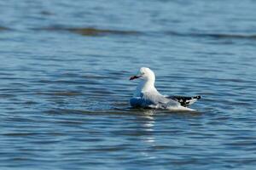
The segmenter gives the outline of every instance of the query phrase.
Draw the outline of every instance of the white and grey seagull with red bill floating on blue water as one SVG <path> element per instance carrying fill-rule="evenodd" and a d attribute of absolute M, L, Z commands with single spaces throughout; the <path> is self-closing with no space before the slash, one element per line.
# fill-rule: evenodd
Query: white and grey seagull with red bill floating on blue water
<path fill-rule="evenodd" d="M 188 106 L 195 103 L 201 96 L 166 96 L 158 92 L 154 87 L 154 72 L 147 67 L 142 67 L 137 76 L 130 80 L 141 79 L 133 97 L 130 99 L 132 107 L 142 107 L 151 109 L 167 109 L 172 111 L 195 111 Z"/>

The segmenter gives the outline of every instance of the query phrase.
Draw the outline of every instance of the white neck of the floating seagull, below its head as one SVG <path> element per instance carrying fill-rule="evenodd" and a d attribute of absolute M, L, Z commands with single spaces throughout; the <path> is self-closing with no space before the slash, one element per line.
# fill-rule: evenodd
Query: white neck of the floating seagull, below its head
<path fill-rule="evenodd" d="M 157 92 L 156 88 L 154 88 L 154 78 L 141 80 L 141 82 L 137 86 L 134 97 L 141 97 L 141 94 L 147 92 Z"/>

